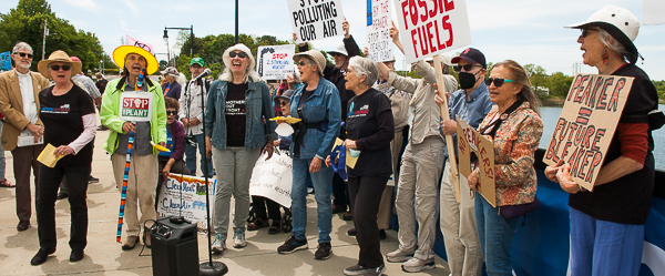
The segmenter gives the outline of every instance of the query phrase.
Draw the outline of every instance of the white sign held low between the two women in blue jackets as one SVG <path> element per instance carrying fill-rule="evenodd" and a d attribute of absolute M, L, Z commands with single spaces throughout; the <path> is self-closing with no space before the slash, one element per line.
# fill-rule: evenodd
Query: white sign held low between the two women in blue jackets
<path fill-rule="evenodd" d="M 258 156 L 249 180 L 249 194 L 270 198 L 279 205 L 290 208 L 290 190 L 294 178 L 294 160 L 288 151 L 275 149 L 273 157 L 267 153 Z"/>

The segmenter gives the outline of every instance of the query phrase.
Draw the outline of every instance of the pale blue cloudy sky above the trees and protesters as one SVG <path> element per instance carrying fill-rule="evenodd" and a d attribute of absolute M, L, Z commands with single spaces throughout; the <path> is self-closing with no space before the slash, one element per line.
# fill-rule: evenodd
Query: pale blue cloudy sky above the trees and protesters
<path fill-rule="evenodd" d="M 9 12 L 17 3 L 1 1 L 0 12 Z M 155 52 L 165 53 L 164 27 L 188 28 L 193 24 L 194 34 L 200 38 L 235 31 L 234 0 L 50 0 L 49 3 L 58 17 L 69 20 L 76 29 L 96 33 L 108 53 L 120 45 L 125 34 L 152 43 Z M 270 34 L 280 40 L 291 38 L 286 0 L 241 0 L 239 3 L 241 33 Z M 351 34 L 360 47 L 366 45 L 366 1 L 341 0 L 341 3 Z M 628 9 L 642 21 L 642 0 L 469 0 L 467 8 L 473 40 L 470 47 L 484 52 L 491 62 L 512 59 L 520 64 L 541 65 L 548 73 L 570 75 L 573 64 L 582 61 L 580 44 L 575 42 L 580 31 L 563 25 L 582 22 L 607 3 Z M 173 45 L 177 32 L 170 31 L 168 35 Z M 644 64 L 638 61 L 637 65 L 655 80 L 665 80 L 664 38 L 665 25 L 642 25 L 635 40 L 645 58 Z M 341 37 L 315 41 L 314 45 L 332 50 L 339 43 Z M 166 59 L 165 55 L 157 58 Z M 396 58 L 397 68 L 402 69 L 402 57 Z M 581 65 L 581 71 L 596 73 L 586 65 Z"/>

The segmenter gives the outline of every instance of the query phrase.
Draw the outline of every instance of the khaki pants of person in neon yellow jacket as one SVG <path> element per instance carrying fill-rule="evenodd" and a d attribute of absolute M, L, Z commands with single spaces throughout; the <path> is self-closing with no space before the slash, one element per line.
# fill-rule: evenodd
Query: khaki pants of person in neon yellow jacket
<path fill-rule="evenodd" d="M 124 175 L 126 155 L 111 155 L 113 165 L 113 176 L 117 190 L 122 193 L 122 177 Z M 127 226 L 127 236 L 139 236 L 143 223 L 149 219 L 156 219 L 155 213 L 155 188 L 157 186 L 157 155 L 149 154 L 143 156 L 132 156 L 130 164 L 130 174 L 127 177 L 127 194 L 125 197 L 124 224 Z M 141 208 L 141 219 L 139 219 L 139 207 Z M 145 227 L 152 227 L 153 222 L 145 224 Z"/>

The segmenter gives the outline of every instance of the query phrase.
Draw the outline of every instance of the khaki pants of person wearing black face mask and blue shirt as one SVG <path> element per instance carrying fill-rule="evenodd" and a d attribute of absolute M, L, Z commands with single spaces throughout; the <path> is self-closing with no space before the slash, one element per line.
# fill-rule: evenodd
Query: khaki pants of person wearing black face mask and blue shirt
<path fill-rule="evenodd" d="M 457 203 L 452 183 L 450 162 L 447 162 L 441 178 L 440 219 L 450 273 L 453 276 L 480 276 L 482 252 L 475 229 L 474 200 L 469 194 L 467 178 L 460 174 L 460 203 Z"/>

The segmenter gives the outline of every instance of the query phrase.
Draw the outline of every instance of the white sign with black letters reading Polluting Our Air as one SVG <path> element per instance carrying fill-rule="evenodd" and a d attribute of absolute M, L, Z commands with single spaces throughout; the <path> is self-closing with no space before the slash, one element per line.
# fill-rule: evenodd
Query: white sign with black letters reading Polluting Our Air
<path fill-rule="evenodd" d="M 342 35 L 340 0 L 287 0 L 297 43 Z"/>

